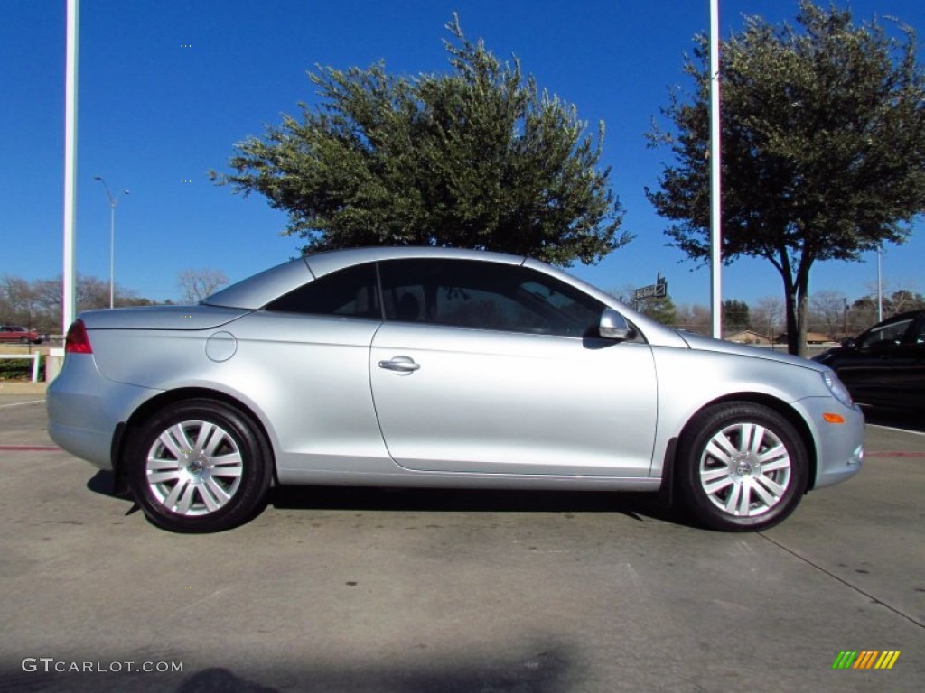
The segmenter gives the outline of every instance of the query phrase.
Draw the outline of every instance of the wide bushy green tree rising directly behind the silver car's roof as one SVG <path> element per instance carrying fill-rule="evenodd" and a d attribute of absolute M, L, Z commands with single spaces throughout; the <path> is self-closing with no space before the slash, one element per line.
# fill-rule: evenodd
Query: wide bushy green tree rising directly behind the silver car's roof
<path fill-rule="evenodd" d="M 319 67 L 322 103 L 237 144 L 234 172 L 213 179 L 286 210 L 303 252 L 454 246 L 569 265 L 627 243 L 598 170 L 603 124 L 595 141 L 516 58 L 467 41 L 455 16 L 447 29 L 450 74 Z"/>

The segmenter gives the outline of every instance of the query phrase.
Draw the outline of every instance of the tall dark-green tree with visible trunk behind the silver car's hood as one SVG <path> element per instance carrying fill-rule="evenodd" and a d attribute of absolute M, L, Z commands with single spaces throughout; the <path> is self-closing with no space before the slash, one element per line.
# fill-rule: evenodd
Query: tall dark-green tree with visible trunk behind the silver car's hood
<path fill-rule="evenodd" d="M 764 258 L 783 278 L 788 347 L 804 353 L 813 263 L 857 261 L 901 243 L 925 210 L 925 76 L 916 35 L 860 27 L 847 10 L 807 0 L 802 30 L 746 18 L 722 43 L 722 256 Z M 698 37 L 685 72 L 690 102 L 662 110 L 675 134 L 649 133 L 678 159 L 666 166 L 658 212 L 695 260 L 709 258 L 709 46 Z"/>

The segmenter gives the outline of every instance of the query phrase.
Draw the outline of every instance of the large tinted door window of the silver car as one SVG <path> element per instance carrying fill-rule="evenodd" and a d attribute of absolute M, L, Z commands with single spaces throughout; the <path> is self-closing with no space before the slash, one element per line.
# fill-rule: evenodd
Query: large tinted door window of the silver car
<path fill-rule="evenodd" d="M 380 264 L 387 320 L 483 330 L 588 336 L 603 305 L 546 274 L 467 260 Z"/>

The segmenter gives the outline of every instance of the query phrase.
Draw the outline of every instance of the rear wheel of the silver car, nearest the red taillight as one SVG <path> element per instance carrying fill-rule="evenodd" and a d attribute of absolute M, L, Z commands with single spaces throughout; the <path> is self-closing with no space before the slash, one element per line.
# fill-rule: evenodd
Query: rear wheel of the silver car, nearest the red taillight
<path fill-rule="evenodd" d="M 262 432 L 237 409 L 192 399 L 131 432 L 125 473 L 138 505 L 171 531 L 229 529 L 251 516 L 270 483 Z"/>

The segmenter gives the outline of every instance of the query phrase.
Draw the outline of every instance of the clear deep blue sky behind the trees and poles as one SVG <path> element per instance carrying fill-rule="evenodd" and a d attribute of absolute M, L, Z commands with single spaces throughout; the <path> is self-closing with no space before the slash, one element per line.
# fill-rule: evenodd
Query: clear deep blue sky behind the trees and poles
<path fill-rule="evenodd" d="M 840 1 L 839 6 L 845 6 Z M 50 278 L 62 270 L 65 0 L 0 2 L 0 274 Z M 925 37 L 921 0 L 854 0 L 856 20 L 895 16 Z M 221 269 L 235 281 L 297 253 L 280 236 L 286 216 L 263 197 L 218 188 L 235 142 L 260 135 L 298 102 L 315 103 L 306 71 L 366 67 L 384 59 L 406 74 L 447 70 L 444 25 L 458 11 L 471 39 L 517 55 L 541 87 L 574 103 L 594 128 L 607 125 L 604 164 L 636 239 L 573 273 L 605 289 L 668 278 L 675 303 L 709 302 L 709 270 L 665 246 L 666 222 L 644 195 L 669 152 L 643 133 L 673 85 L 688 86 L 683 55 L 709 28 L 708 0 L 81 0 L 77 263 L 109 276 L 109 204 L 93 176 L 115 193 L 116 280 L 146 298 L 176 298 L 177 276 Z M 743 15 L 792 19 L 796 0 L 724 0 L 722 35 Z M 925 56 L 919 56 L 925 60 Z M 888 248 L 888 290 L 925 290 L 925 223 Z M 876 256 L 817 263 L 811 290 L 869 294 Z M 722 273 L 723 298 L 781 296 L 763 261 Z"/>

